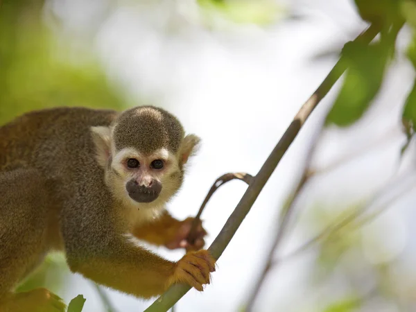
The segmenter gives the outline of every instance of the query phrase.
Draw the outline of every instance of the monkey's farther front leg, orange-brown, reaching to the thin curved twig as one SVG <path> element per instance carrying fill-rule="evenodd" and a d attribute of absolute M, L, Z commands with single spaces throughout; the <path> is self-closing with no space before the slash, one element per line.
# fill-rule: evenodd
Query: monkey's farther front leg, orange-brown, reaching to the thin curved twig
<path fill-rule="evenodd" d="M 207 235 L 207 232 L 199 220 L 198 226 L 196 227 L 195 242 L 189 244 L 187 237 L 191 230 L 192 222 L 193 218 L 186 218 L 180 221 L 168 214 L 168 211 L 164 211 L 164 214 L 157 220 L 135 227 L 132 234 L 137 239 L 143 239 L 154 245 L 164 245 L 169 249 L 185 248 L 187 250 L 200 250 L 205 245 L 204 237 Z"/>

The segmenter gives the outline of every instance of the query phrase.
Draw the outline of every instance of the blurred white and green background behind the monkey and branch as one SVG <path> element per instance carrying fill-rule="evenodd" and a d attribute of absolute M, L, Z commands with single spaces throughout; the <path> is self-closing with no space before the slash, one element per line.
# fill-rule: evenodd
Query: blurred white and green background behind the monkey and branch
<path fill-rule="evenodd" d="M 349 0 L 0 3 L 0 123 L 57 105 L 164 107 L 202 137 L 184 187 L 169 205 L 177 218 L 196 214 L 223 173 L 257 173 L 345 42 L 367 27 Z M 254 311 L 416 311 L 413 142 L 401 153 L 402 107 L 415 78 L 406 58 L 411 40 L 405 26 L 363 117 L 348 127 L 329 125 L 315 141 L 342 81 L 335 85 L 218 261 L 213 283 L 203 293 L 187 293 L 175 311 L 244 309 L 304 166 L 313 176 L 296 198 Z M 312 159 L 305 163 L 311 144 Z M 208 245 L 245 187 L 230 182 L 209 202 L 202 215 Z M 357 209 L 364 218 L 296 252 Z M 183 254 L 149 248 L 168 259 Z M 66 302 L 83 294 L 83 311 L 110 311 L 103 296 L 113 312 L 143 311 L 152 302 L 107 288 L 100 294 L 69 272 L 62 254 L 52 254 L 19 289 L 36 286 Z"/>

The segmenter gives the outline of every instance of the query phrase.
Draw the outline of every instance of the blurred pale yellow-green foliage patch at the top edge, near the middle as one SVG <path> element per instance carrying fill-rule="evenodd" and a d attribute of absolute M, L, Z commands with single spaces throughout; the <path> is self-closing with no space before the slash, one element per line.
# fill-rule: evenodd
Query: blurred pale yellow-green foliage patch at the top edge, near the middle
<path fill-rule="evenodd" d="M 236 23 L 270 24 L 280 7 L 272 0 L 198 0 L 207 15 L 220 15 Z"/>

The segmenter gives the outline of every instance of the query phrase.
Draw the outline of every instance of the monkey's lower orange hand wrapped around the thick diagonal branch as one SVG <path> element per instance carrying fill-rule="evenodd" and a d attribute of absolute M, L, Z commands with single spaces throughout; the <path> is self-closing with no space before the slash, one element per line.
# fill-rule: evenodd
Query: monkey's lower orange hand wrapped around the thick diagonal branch
<path fill-rule="evenodd" d="M 188 252 L 177 261 L 175 271 L 168 280 L 168 286 L 186 283 L 198 291 L 204 291 L 203 284 L 210 284 L 210 272 L 215 271 L 215 259 L 207 250 Z"/>

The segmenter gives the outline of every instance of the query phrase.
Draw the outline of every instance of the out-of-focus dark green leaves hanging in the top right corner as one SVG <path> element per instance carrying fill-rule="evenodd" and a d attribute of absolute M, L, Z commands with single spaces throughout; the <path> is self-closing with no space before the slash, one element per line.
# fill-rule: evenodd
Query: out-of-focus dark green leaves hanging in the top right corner
<path fill-rule="evenodd" d="M 416 21 L 414 0 L 355 0 L 355 3 L 363 20 L 375 24 L 381 37 L 370 45 L 345 44 L 340 57 L 348 69 L 343 87 L 327 117 L 327 125 L 347 126 L 363 116 L 383 83 L 389 59 L 395 54 L 397 34 L 406 21 L 410 26 Z M 408 55 L 411 60 L 412 53 Z M 411 92 L 404 109 L 404 129 L 408 136 L 416 113 L 412 104 L 414 98 L 415 92 Z"/>

